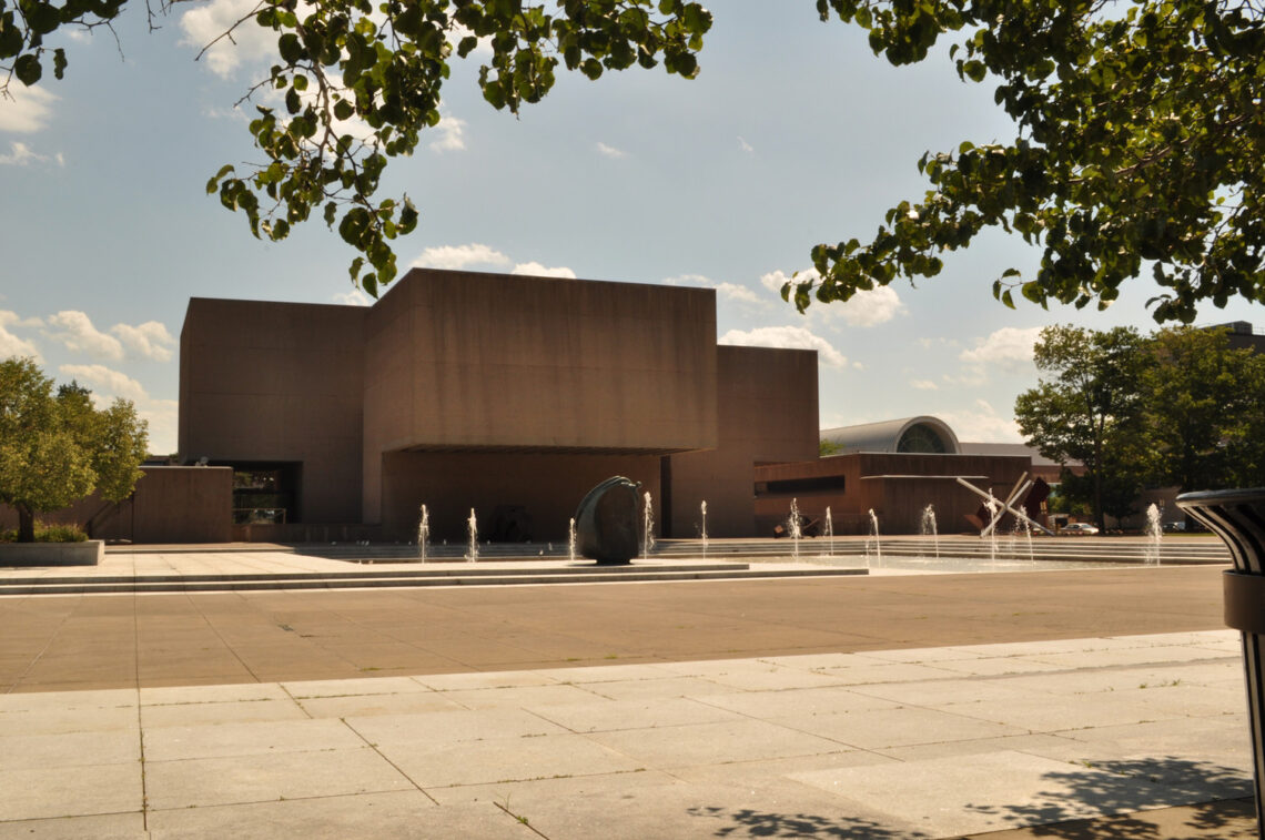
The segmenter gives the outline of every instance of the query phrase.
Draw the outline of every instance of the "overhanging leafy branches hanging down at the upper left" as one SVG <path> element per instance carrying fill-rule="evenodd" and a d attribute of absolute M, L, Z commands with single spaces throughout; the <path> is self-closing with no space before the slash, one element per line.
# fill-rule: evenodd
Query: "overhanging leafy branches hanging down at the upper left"
<path fill-rule="evenodd" d="M 16 78 L 39 82 L 51 63 L 62 78 L 59 29 L 109 27 L 126 0 L 0 0 L 0 95 Z M 314 213 L 359 252 L 352 280 L 369 295 L 396 276 L 391 242 L 411 232 L 409 196 L 379 199 L 387 161 L 411 154 L 439 123 L 440 91 L 454 57 L 482 39 L 491 58 L 479 87 L 496 109 L 517 113 L 554 85 L 559 66 L 596 80 L 606 71 L 659 63 L 693 78 L 711 14 L 686 0 L 558 0 L 558 14 L 521 0 L 261 0 L 239 27 L 276 33 L 277 54 L 261 90 L 283 109 L 256 108 L 250 137 L 263 161 L 248 172 L 224 166 L 207 182 L 250 233 L 285 239 Z M 158 0 L 156 13 L 172 0 Z"/>

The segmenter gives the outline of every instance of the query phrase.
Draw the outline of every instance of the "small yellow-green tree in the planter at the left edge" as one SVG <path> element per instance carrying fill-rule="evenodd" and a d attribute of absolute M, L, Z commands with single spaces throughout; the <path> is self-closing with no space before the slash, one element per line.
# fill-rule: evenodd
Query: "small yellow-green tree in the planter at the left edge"
<path fill-rule="evenodd" d="M 92 407 L 76 383 L 53 393 L 33 359 L 0 362 L 0 502 L 18 511 L 18 540 L 35 539 L 35 514 L 96 490 L 126 497 L 140 477 L 147 424 L 126 400 Z"/>

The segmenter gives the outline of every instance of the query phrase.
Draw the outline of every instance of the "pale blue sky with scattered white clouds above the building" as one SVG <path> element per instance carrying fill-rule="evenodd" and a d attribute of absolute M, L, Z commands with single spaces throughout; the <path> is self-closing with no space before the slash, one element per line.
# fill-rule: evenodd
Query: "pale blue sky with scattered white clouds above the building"
<path fill-rule="evenodd" d="M 479 96 L 478 53 L 445 85 L 444 120 L 387 190 L 421 211 L 400 240 L 410 264 L 557 273 L 717 290 L 717 338 L 815 347 L 821 424 L 915 414 L 964 440 L 1018 440 L 1016 395 L 1035 385 L 1031 344 L 1047 324 L 1154 326 L 1146 278 L 1107 311 L 993 301 L 992 281 L 1035 253 L 989 237 L 912 288 L 798 315 L 773 291 L 818 242 L 865 239 L 883 211 L 925 191 L 926 151 L 1009 140 L 992 87 L 945 57 L 893 68 L 859 30 L 815 4 L 731 0 L 693 81 L 629 71 L 564 73 L 520 118 Z M 772 9 L 777 11 L 772 11 Z M 176 450 L 177 343 L 191 296 L 364 302 L 354 256 L 319 221 L 278 244 L 204 192 L 224 163 L 258 161 L 234 104 L 266 73 L 267 34 L 244 30 L 195 61 L 249 4 L 177 4 L 147 30 L 143 6 L 110 33 L 66 39 L 65 81 L 0 101 L 0 357 L 35 355 L 58 381 L 133 400 L 151 449 Z M 385 194 L 386 195 L 386 194 Z M 1199 323 L 1259 305 L 1211 305 Z"/>

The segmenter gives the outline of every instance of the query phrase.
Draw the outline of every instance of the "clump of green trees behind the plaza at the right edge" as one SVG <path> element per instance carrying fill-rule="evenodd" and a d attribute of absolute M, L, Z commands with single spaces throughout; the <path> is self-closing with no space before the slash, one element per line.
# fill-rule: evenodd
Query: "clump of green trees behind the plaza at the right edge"
<path fill-rule="evenodd" d="M 1050 326 L 1034 348 L 1035 388 L 1015 402 L 1030 445 L 1065 471 L 1060 492 L 1095 516 L 1128 515 L 1145 485 L 1184 491 L 1265 481 L 1265 354 L 1223 329 L 1142 337 Z"/>

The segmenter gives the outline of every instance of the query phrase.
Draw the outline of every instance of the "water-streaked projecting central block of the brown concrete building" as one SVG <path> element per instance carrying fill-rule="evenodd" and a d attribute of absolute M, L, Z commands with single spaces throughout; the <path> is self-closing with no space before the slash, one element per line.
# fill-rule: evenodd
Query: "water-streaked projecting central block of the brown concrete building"
<path fill-rule="evenodd" d="M 383 453 L 717 443 L 711 290 L 415 269 L 366 334 L 366 522 L 395 516 Z"/>

